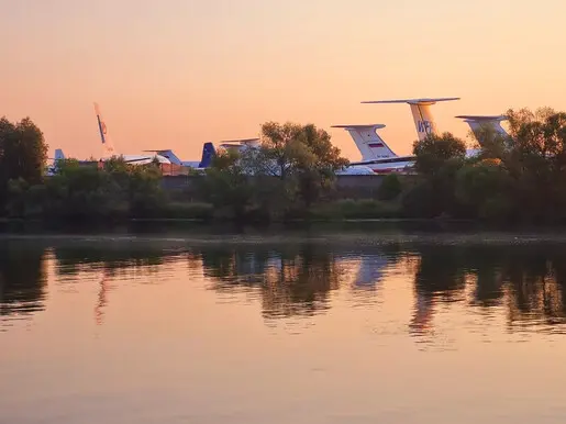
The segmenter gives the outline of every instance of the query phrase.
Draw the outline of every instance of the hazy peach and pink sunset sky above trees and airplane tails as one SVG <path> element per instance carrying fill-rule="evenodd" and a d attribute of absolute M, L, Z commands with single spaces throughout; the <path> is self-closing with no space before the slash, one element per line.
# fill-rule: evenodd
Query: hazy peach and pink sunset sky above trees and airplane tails
<path fill-rule="evenodd" d="M 566 110 L 563 0 L 0 0 L 0 115 L 31 116 L 49 145 L 101 154 L 98 101 L 119 153 L 256 136 L 265 121 L 384 123 L 399 154 L 417 138 L 406 97 L 460 97 L 456 114 Z"/>

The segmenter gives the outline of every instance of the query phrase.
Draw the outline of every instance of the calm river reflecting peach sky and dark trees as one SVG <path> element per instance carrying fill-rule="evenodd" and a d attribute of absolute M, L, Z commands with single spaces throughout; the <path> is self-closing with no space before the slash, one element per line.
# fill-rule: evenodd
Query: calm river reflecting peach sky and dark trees
<path fill-rule="evenodd" d="M 558 238 L 4 237 L 0 423 L 563 423 Z"/>

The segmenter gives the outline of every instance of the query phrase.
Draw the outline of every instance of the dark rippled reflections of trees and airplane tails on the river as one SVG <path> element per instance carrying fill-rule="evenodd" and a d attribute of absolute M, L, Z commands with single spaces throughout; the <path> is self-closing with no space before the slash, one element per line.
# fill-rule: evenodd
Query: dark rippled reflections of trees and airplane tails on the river
<path fill-rule="evenodd" d="M 544 326 L 556 332 L 566 324 L 565 259 L 566 254 L 545 246 L 171 248 L 152 242 L 44 249 L 19 242 L 0 247 L 0 330 L 42 313 L 47 291 L 56 295 L 56 288 L 68 284 L 74 291 L 97 287 L 92 303 L 98 324 L 122 282 L 158 282 L 167 290 L 168 280 L 179 274 L 200 281 L 200 289 L 231 294 L 235 302 L 242 301 L 240 293 L 252 295 L 266 319 L 289 319 L 328 313 L 337 292 L 346 294 L 346 302 L 353 293 L 386 304 L 381 289 L 397 283 L 390 278 L 395 274 L 412 287 L 407 291 L 412 316 L 404 325 L 413 336 L 435 337 L 436 317 L 454 308 L 504 312 L 511 331 Z"/>

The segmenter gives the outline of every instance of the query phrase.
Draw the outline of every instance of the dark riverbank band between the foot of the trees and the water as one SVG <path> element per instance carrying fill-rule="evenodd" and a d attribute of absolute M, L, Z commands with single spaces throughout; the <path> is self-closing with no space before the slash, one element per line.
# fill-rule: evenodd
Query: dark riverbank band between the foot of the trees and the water
<path fill-rule="evenodd" d="M 184 246 L 264 245 L 292 246 L 444 246 L 529 244 L 566 245 L 566 227 L 489 228 L 476 222 L 434 220 L 351 220 L 342 222 L 289 222 L 270 225 L 235 225 L 193 220 L 132 220 L 127 223 L 80 225 L 42 221 L 0 222 L 0 243 L 34 241 L 65 245 Z M 129 248 L 130 248 L 129 247 Z"/>

